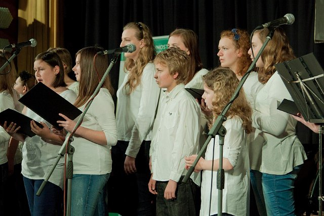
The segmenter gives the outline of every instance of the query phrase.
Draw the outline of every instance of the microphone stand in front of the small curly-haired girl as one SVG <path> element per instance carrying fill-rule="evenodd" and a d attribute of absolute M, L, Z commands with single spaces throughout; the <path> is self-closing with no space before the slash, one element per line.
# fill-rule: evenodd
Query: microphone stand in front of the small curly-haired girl
<path fill-rule="evenodd" d="M 250 72 L 253 70 L 255 67 L 255 64 L 257 63 L 259 57 L 261 56 L 264 48 L 267 46 L 269 40 L 271 40 L 273 33 L 274 33 L 275 28 L 269 29 L 269 34 L 266 37 L 266 40 L 264 41 L 259 53 L 253 60 L 251 66 L 249 67 L 248 71 L 246 74 L 242 77 L 240 82 L 238 83 L 238 86 L 231 97 L 230 101 L 228 104 L 223 108 L 221 114 L 216 118 L 212 128 L 210 129 L 208 133 L 208 138 L 204 144 L 203 147 L 201 147 L 201 150 L 199 151 L 195 161 L 193 162 L 192 166 L 189 168 L 186 176 L 183 178 L 182 182 L 187 182 L 189 179 L 190 175 L 192 174 L 194 167 L 197 165 L 197 162 L 199 158 L 203 155 L 203 153 L 206 151 L 207 146 L 209 142 L 211 141 L 212 138 L 215 138 L 216 135 L 219 135 L 219 168 L 217 170 L 217 189 L 218 189 L 218 214 L 219 216 L 222 215 L 222 200 L 223 200 L 223 189 L 224 189 L 224 169 L 223 169 L 223 145 L 224 145 L 224 137 L 226 135 L 226 128 L 223 126 L 223 122 L 226 121 L 226 113 L 228 112 L 229 108 L 231 107 L 233 101 L 237 98 L 240 89 L 242 88 L 244 82 L 248 78 Z"/>

